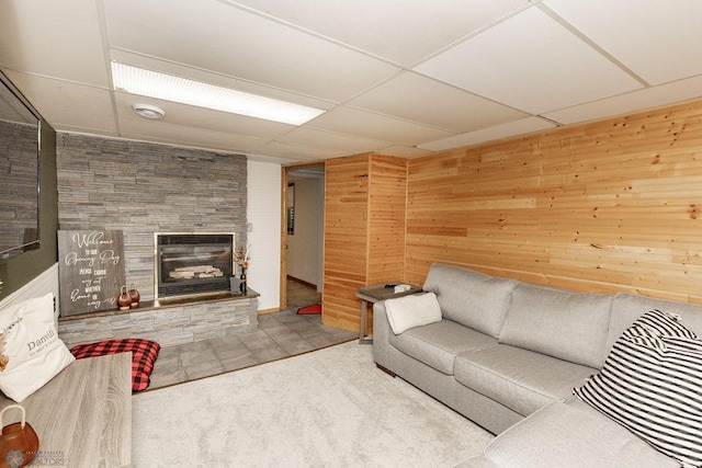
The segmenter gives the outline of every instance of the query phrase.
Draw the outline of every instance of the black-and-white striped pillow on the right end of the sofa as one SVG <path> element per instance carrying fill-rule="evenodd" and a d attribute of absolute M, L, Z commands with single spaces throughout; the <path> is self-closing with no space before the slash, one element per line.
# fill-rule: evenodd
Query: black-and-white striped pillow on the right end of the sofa
<path fill-rule="evenodd" d="M 702 340 L 678 316 L 644 313 L 574 392 L 656 449 L 702 466 Z"/>

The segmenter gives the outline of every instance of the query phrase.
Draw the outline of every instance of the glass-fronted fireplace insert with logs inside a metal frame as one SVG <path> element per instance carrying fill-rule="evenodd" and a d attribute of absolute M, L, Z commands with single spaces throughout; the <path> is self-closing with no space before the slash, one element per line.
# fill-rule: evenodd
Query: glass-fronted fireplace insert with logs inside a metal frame
<path fill-rule="evenodd" d="M 234 233 L 156 233 L 156 299 L 229 290 Z"/>

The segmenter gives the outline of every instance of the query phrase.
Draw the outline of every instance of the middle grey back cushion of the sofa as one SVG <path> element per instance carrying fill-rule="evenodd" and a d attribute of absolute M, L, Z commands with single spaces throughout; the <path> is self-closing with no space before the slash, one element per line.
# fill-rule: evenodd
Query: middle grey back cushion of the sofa
<path fill-rule="evenodd" d="M 500 343 L 601 368 L 612 296 L 520 283 Z"/>

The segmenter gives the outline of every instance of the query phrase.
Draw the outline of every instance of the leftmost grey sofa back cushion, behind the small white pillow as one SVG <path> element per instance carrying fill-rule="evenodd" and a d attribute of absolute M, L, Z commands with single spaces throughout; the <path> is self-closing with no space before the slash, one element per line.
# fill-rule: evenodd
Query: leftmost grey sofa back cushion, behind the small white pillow
<path fill-rule="evenodd" d="M 443 318 L 497 338 L 516 285 L 514 279 L 434 263 L 423 288 L 437 295 Z"/>

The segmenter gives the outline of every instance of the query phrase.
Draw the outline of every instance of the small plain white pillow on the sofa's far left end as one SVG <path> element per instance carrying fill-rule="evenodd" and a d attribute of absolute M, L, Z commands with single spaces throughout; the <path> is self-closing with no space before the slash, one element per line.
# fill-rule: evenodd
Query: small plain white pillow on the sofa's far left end
<path fill-rule="evenodd" d="M 387 321 L 395 334 L 441 320 L 441 308 L 437 295 L 433 293 L 387 299 L 385 310 Z"/>

